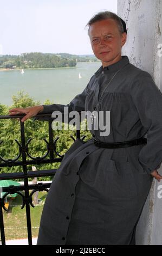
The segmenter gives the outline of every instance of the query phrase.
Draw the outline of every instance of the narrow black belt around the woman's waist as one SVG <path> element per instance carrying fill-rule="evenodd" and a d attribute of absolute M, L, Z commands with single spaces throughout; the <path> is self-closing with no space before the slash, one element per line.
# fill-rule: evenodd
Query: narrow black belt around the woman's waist
<path fill-rule="evenodd" d="M 123 142 L 100 142 L 96 139 L 93 139 L 94 144 L 99 148 L 107 148 L 107 149 L 114 149 L 114 148 L 127 148 L 132 147 L 135 145 L 146 144 L 147 139 L 144 137 L 133 139 L 132 141 L 123 141 Z"/>

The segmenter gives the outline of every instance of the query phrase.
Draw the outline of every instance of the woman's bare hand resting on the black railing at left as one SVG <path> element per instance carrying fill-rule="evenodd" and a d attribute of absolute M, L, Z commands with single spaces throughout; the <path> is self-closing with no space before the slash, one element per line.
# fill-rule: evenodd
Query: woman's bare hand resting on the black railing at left
<path fill-rule="evenodd" d="M 34 106 L 34 107 L 26 107 L 26 108 L 12 108 L 9 110 L 9 115 L 17 115 L 17 114 L 25 114 L 25 116 L 21 119 L 22 122 L 26 121 L 28 118 L 35 117 L 38 113 L 43 111 L 43 106 Z"/>

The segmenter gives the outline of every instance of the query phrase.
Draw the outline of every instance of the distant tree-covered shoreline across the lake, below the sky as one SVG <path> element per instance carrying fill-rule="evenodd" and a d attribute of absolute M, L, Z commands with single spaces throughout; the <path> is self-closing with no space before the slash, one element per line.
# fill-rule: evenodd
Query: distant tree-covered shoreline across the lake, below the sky
<path fill-rule="evenodd" d="M 0 57 L 0 69 L 37 69 L 75 67 L 77 62 L 96 62 L 93 55 L 77 56 L 69 53 L 31 52 Z"/>

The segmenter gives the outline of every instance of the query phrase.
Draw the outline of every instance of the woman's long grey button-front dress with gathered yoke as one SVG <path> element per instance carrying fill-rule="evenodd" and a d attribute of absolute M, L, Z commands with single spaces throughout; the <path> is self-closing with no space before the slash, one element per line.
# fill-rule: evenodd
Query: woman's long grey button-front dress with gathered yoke
<path fill-rule="evenodd" d="M 150 174 L 162 162 L 162 94 L 152 77 L 127 56 L 99 68 L 70 111 L 93 111 L 101 91 L 100 111 L 111 111 L 109 136 L 103 142 L 147 136 L 147 144 L 98 148 L 77 139 L 66 152 L 44 204 L 37 245 L 133 245 L 135 228 L 150 191 Z M 100 94 L 99 94 L 100 89 Z M 44 105 L 42 113 L 63 112 L 64 105 Z M 145 136 L 145 137 L 146 137 Z"/>

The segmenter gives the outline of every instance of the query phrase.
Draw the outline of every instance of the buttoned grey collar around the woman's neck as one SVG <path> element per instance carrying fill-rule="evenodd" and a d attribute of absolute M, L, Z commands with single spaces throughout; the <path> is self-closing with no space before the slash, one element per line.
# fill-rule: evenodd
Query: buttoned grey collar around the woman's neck
<path fill-rule="evenodd" d="M 127 56 L 122 56 L 122 59 L 119 60 L 116 63 L 113 63 L 112 65 L 109 66 L 105 66 L 103 68 L 103 66 L 100 66 L 100 68 L 94 73 L 96 76 L 99 76 L 101 74 L 101 72 L 103 71 L 104 74 L 107 74 L 108 70 L 115 72 L 121 68 L 123 68 L 125 65 L 127 65 L 129 63 L 129 59 Z M 108 72 L 109 73 L 109 72 Z"/>

